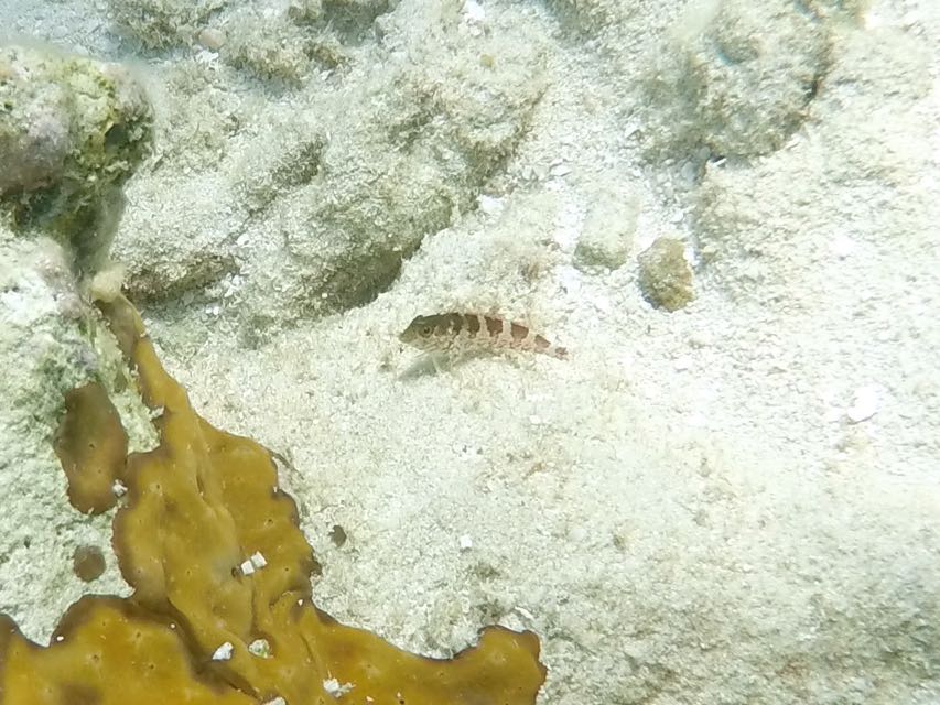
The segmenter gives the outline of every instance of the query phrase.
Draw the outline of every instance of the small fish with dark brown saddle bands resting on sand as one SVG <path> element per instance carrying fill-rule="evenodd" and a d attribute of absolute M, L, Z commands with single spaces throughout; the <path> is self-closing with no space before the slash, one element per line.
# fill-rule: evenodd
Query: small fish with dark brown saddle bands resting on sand
<path fill-rule="evenodd" d="M 398 339 L 426 352 L 455 357 L 507 348 L 542 352 L 562 360 L 568 357 L 565 348 L 552 345 L 521 323 L 478 313 L 418 316 Z"/>

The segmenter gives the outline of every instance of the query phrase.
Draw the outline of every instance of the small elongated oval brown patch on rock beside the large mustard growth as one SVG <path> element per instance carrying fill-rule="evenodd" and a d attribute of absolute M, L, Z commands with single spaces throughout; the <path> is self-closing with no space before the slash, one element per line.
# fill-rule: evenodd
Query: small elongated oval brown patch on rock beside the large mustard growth
<path fill-rule="evenodd" d="M 123 477 L 127 452 L 127 433 L 101 384 L 91 382 L 65 395 L 55 453 L 75 509 L 98 514 L 115 506 L 115 480 Z"/>

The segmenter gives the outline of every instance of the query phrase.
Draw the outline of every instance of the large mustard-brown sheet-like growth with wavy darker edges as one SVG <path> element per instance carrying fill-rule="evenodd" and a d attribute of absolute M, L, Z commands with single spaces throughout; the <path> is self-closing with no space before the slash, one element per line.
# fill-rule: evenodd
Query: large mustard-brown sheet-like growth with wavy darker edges
<path fill-rule="evenodd" d="M 195 413 L 126 299 L 101 308 L 137 367 L 144 402 L 162 409 L 160 445 L 127 458 L 128 494 L 115 519 L 115 551 L 134 593 L 80 599 L 47 648 L 0 616 L 0 702 L 534 703 L 545 671 L 531 632 L 490 627 L 476 647 L 441 661 L 406 653 L 318 610 L 310 582 L 316 562 L 270 453 Z M 93 392 L 83 399 L 109 404 Z M 97 443 L 109 424 L 67 419 L 65 426 L 77 433 L 74 442 Z M 249 562 L 252 570 L 242 570 Z M 338 693 L 327 687 L 335 683 Z"/>

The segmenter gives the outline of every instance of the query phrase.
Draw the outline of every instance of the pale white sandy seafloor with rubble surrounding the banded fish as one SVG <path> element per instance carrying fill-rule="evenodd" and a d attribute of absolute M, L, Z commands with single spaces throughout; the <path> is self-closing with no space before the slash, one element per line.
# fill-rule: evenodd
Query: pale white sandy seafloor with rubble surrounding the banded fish
<path fill-rule="evenodd" d="M 745 152 L 728 156 L 696 133 L 707 126 L 674 137 L 692 108 L 684 83 L 668 87 L 718 4 L 402 0 L 380 44 L 350 41 L 348 65 L 314 64 L 288 87 L 230 76 L 205 46 L 144 50 L 116 29 L 116 1 L 2 0 L 0 22 L 128 61 L 150 87 L 158 154 L 128 185 L 114 254 L 131 289 L 158 282 L 138 284 L 151 294 L 140 306 L 196 408 L 291 459 L 283 482 L 323 564 L 320 607 L 432 655 L 484 625 L 531 629 L 544 705 L 938 703 L 940 6 L 817 3 L 831 13 L 814 97 L 780 144 L 758 130 L 749 147 L 721 142 Z M 757 15 L 742 51 L 803 51 L 792 65 L 815 51 L 748 4 L 725 3 Z M 531 110 L 510 153 L 467 177 L 475 205 L 421 234 L 374 301 L 326 315 L 298 304 L 317 238 L 332 246 L 295 205 L 315 194 L 291 182 L 291 140 L 310 129 L 367 151 L 369 106 L 336 106 L 357 91 L 380 101 L 382 82 L 414 65 L 442 67 L 429 95 L 460 123 L 461 91 L 479 88 L 461 52 L 476 58 L 477 43 L 500 90 Z M 530 73 L 499 74 L 504 56 Z M 756 85 L 786 91 L 790 68 L 778 62 Z M 653 99 L 657 72 L 667 89 Z M 201 80 L 195 97 L 174 93 Z M 776 98 L 748 80 L 721 95 L 728 115 L 741 101 L 782 130 L 771 107 L 760 115 Z M 434 124 L 408 128 L 419 149 Z M 395 163 L 414 213 L 451 176 L 414 175 L 421 159 L 449 159 L 429 144 Z M 279 150 L 290 174 L 267 166 L 272 210 L 246 215 L 235 185 Z M 284 259 L 275 250 L 296 234 L 310 249 Z M 682 238 L 695 270 L 695 300 L 671 314 L 637 285 L 636 256 L 659 236 Z M 590 238 L 626 262 L 575 265 Z M 266 302 L 273 324 L 257 323 Z M 570 360 L 403 373 L 418 354 L 397 334 L 450 310 L 531 322 Z M 19 566 L 18 585 L 0 579 L 4 605 L 68 573 L 54 522 L 36 522 L 50 553 Z M 334 524 L 348 536 L 339 547 Z M 17 617 L 41 639 L 62 607 Z"/>

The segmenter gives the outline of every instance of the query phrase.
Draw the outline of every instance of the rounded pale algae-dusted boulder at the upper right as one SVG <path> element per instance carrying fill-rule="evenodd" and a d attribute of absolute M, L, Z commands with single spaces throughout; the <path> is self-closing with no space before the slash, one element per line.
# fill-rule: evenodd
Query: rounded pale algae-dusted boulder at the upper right
<path fill-rule="evenodd" d="M 723 156 L 780 148 L 830 64 L 829 25 L 789 2 L 700 0 L 647 79 L 655 153 Z"/>

